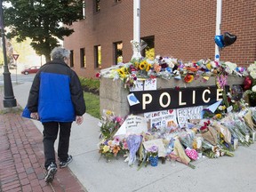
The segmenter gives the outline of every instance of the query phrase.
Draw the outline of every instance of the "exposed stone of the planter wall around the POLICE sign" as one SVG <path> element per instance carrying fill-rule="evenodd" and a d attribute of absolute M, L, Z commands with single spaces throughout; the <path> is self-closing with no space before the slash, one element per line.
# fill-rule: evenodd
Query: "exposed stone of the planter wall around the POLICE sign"
<path fill-rule="evenodd" d="M 216 84 L 216 78 L 211 76 L 208 81 L 204 81 L 202 77 L 194 80 L 190 84 L 186 84 L 183 80 L 165 80 L 163 78 L 157 78 L 157 90 L 174 88 L 175 86 L 182 87 L 196 87 L 196 86 L 212 86 Z M 228 85 L 243 84 L 244 77 L 228 76 Z M 103 109 L 109 109 L 117 116 L 127 116 L 129 114 L 129 103 L 127 101 L 127 95 L 129 91 L 124 89 L 124 83 L 121 80 L 100 78 L 100 113 Z"/>

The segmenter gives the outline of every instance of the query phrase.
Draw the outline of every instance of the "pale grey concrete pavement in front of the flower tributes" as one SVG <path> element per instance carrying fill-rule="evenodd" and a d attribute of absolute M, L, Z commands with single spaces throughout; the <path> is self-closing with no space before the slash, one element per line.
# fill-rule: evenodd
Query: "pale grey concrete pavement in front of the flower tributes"
<path fill-rule="evenodd" d="M 28 100 L 30 86 L 31 83 L 13 84 L 15 98 L 22 108 Z M 26 120 L 28 122 L 33 122 L 33 127 L 42 132 L 41 123 Z M 196 165 L 194 170 L 184 164 L 172 166 L 168 161 L 165 164 L 159 161 L 156 167 L 142 167 L 137 171 L 137 165 L 129 167 L 121 157 L 108 163 L 100 158 L 97 148 L 100 134 L 98 123 L 99 119 L 85 114 L 84 123 L 79 126 L 73 124 L 71 132 L 69 154 L 74 160 L 68 167 L 87 191 L 254 192 L 256 189 L 255 144 L 248 148 L 239 146 L 234 157 L 204 157 L 193 163 Z M 58 174 L 60 172 L 57 172 L 57 177 Z"/>

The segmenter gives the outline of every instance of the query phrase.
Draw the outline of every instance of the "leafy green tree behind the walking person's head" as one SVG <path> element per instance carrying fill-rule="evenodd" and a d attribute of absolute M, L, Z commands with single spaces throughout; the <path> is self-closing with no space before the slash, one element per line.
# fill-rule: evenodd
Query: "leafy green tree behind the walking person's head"
<path fill-rule="evenodd" d="M 39 55 L 49 61 L 52 49 L 59 39 L 70 36 L 73 22 L 82 20 L 84 0 L 4 0 L 4 25 L 10 28 L 8 38 L 20 43 L 26 38 Z"/>

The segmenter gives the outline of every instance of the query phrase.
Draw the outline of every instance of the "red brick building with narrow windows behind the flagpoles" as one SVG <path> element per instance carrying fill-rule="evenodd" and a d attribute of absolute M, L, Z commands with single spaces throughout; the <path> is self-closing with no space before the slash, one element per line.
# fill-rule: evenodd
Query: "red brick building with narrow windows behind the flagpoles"
<path fill-rule="evenodd" d="M 78 76 L 94 77 L 122 59 L 132 58 L 133 1 L 84 0 L 84 20 L 64 39 Z M 140 38 L 155 55 L 183 61 L 214 60 L 216 1 L 140 0 Z M 220 60 L 248 65 L 256 60 L 256 1 L 222 0 L 221 34 L 237 36 L 220 51 Z M 146 50 L 147 50 L 146 49 Z M 143 54 L 143 53 L 142 53 Z"/>

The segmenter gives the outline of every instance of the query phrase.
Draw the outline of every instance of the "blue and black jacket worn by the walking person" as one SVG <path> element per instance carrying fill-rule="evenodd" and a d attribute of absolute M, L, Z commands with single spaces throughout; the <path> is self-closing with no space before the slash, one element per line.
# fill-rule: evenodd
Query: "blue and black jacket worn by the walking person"
<path fill-rule="evenodd" d="M 76 72 L 62 60 L 44 64 L 34 78 L 27 107 L 38 112 L 42 123 L 73 122 L 83 116 L 84 93 Z"/>

